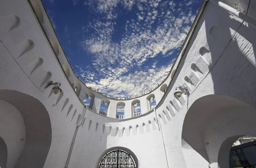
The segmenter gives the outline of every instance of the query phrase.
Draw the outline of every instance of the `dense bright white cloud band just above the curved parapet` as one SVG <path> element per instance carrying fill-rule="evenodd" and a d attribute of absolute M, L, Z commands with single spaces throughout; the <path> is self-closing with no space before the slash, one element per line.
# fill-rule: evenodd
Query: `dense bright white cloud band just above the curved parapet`
<path fill-rule="evenodd" d="M 115 98 L 128 95 L 134 96 L 136 94 L 141 95 L 149 89 L 157 87 L 166 78 L 171 67 L 172 64 L 169 64 L 155 70 L 149 69 L 147 72 L 143 70 L 135 71 L 127 76 L 119 76 L 118 79 L 112 77 L 102 78 L 99 82 L 88 82 L 86 85 L 94 89 L 100 88 L 102 93 L 108 93 L 108 96 Z"/>

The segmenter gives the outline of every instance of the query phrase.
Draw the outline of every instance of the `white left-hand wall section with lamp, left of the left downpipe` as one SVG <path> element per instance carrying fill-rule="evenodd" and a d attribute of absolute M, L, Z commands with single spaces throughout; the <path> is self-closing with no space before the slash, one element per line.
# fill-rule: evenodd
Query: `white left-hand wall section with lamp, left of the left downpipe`
<path fill-rule="evenodd" d="M 6 24 L 6 20 L 10 22 Z M 17 90 L 44 104 L 52 127 L 52 142 L 44 167 L 64 167 L 71 135 L 84 106 L 64 78 L 26 0 L 1 1 L 0 25 L 0 89 Z M 44 89 L 51 80 L 61 82 L 63 93 L 53 94 L 52 86 Z"/>

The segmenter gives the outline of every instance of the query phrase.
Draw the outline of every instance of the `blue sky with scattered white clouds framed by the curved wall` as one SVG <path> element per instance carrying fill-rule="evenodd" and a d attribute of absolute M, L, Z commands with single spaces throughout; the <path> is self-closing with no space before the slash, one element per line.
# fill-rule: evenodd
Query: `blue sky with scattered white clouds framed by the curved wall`
<path fill-rule="evenodd" d="M 43 0 L 81 81 L 114 98 L 168 75 L 202 0 Z"/>

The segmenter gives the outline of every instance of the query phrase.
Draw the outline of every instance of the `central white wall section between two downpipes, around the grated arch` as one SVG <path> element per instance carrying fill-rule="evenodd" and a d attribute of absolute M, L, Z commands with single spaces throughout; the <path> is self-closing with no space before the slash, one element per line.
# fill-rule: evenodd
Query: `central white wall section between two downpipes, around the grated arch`
<path fill-rule="evenodd" d="M 120 122 L 87 110 L 76 137 L 70 167 L 86 165 L 96 168 L 99 156 L 106 149 L 125 147 L 137 156 L 140 168 L 167 168 L 160 130 L 154 118 L 155 113 L 151 112 L 144 117 Z"/>

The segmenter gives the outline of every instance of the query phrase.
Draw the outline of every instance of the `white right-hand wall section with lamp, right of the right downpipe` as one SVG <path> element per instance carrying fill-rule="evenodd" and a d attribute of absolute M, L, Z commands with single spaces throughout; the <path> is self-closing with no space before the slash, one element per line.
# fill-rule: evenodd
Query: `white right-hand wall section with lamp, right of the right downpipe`
<path fill-rule="evenodd" d="M 247 12 L 246 10 L 247 8 L 244 9 L 244 13 Z M 255 48 L 256 43 L 253 39 L 255 29 L 246 25 L 241 19 L 208 2 L 204 14 L 198 23 L 198 29 L 195 31 L 194 37 L 187 48 L 186 57 L 183 58 L 180 68 L 177 69 L 179 75 L 174 76 L 176 78 L 175 83 L 171 83 L 170 86 L 171 88 L 172 86 L 188 87 L 190 92 L 189 98 L 185 94 L 183 94 L 184 97 L 181 99 L 175 98 L 173 96 L 174 91 L 170 90 L 164 97 L 168 101 L 163 101 L 161 106 L 157 108 L 160 116 L 164 116 L 159 117 L 159 120 L 164 124 L 162 127 L 163 138 L 166 144 L 168 144 L 166 145 L 166 152 L 170 167 L 184 166 L 196 168 L 210 166 L 211 168 L 217 168 L 216 156 L 218 158 L 219 151 L 218 148 L 213 147 L 217 146 L 224 139 L 217 140 L 217 138 L 213 138 L 216 135 L 216 132 L 214 133 L 213 131 L 208 132 L 208 134 L 211 133 L 210 138 L 199 137 L 198 133 L 200 133 L 201 129 L 195 128 L 192 123 L 195 122 L 200 128 L 207 127 L 204 126 L 204 122 L 219 124 L 219 121 L 217 122 L 217 120 L 213 119 L 215 115 L 217 117 L 217 114 L 215 114 L 217 111 L 214 111 L 210 116 L 212 120 L 207 120 L 203 117 L 203 114 L 207 112 L 203 107 L 218 107 L 220 106 L 219 103 L 227 102 L 227 100 L 221 100 L 220 98 L 218 98 L 218 101 L 205 99 L 204 102 L 197 104 L 198 111 L 194 111 L 197 113 L 192 113 L 190 122 L 186 123 L 190 130 L 181 134 L 184 128 L 183 121 L 186 113 L 197 99 L 212 94 L 225 95 L 256 107 L 255 96 L 253 96 L 256 94 L 256 91 L 253 89 L 255 87 L 255 78 L 250 80 L 250 74 L 255 71 L 256 67 L 255 54 L 252 50 Z M 215 29 L 213 27 L 218 28 Z M 216 104 L 210 106 L 211 101 L 215 101 Z M 224 107 L 228 107 L 228 105 L 225 104 Z M 171 118 L 168 119 L 165 113 L 169 113 Z M 175 114 L 174 117 L 172 117 L 172 113 Z M 240 115 L 242 114 L 240 113 Z M 244 113 L 244 115 L 246 117 L 250 116 L 248 113 Z M 221 119 L 227 120 L 221 123 L 220 127 L 215 127 L 215 131 L 221 129 L 230 129 L 230 132 L 231 130 L 237 130 L 237 127 L 227 126 L 229 117 L 231 119 L 230 122 L 238 122 L 232 121 L 234 119 L 232 113 L 222 116 L 220 117 Z M 253 131 L 251 127 L 247 127 L 247 129 Z M 225 136 L 226 134 L 221 133 L 220 136 Z M 183 136 L 189 138 L 185 139 Z M 216 142 L 212 142 L 215 140 Z M 201 148 L 200 150 L 198 146 L 191 143 L 192 141 L 196 145 L 204 146 L 207 146 L 207 142 L 209 142 L 209 147 L 211 148 Z M 208 153 L 206 150 L 212 150 L 214 153 L 211 154 L 211 158 L 207 158 Z M 181 160 L 185 161 L 186 165 L 181 166 Z M 223 167 L 225 168 L 225 166 Z"/>

